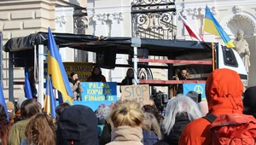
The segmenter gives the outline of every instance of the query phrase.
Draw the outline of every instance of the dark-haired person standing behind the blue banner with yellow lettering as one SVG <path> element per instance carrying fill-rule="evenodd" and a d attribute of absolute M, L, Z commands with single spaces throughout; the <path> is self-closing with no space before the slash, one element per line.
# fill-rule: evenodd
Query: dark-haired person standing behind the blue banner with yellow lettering
<path fill-rule="evenodd" d="M 106 78 L 102 75 L 101 67 L 93 67 L 91 76 L 87 78 L 86 82 L 106 82 Z"/>

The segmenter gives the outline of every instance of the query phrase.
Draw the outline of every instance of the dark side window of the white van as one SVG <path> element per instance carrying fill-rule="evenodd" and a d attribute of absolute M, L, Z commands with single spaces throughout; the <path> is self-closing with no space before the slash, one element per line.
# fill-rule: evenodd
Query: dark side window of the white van
<path fill-rule="evenodd" d="M 222 46 L 222 50 L 224 55 L 224 65 L 230 67 L 238 67 L 236 56 L 232 49 Z"/>

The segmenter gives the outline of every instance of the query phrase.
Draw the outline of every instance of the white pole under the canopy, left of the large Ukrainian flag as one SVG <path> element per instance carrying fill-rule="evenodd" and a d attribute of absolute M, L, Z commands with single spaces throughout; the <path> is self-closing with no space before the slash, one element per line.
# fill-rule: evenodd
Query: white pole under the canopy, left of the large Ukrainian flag
<path fill-rule="evenodd" d="M 44 107 L 44 44 L 38 45 L 38 102 Z"/>

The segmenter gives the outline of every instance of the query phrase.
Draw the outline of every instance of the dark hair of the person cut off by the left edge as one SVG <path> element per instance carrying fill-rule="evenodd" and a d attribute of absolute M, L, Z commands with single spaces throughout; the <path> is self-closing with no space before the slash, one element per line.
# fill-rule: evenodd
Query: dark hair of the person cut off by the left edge
<path fill-rule="evenodd" d="M 4 136 L 7 130 L 9 130 L 10 125 L 9 121 L 7 120 L 7 115 L 5 113 L 5 109 L 3 105 L 0 104 L 0 138 Z"/>

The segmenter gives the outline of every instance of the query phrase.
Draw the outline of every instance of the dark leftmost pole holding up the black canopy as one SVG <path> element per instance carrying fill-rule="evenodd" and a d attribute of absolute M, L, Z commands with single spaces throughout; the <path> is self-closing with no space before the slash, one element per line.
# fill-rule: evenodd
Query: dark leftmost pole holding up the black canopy
<path fill-rule="evenodd" d="M 9 102 L 15 103 L 14 97 L 14 54 L 9 52 Z"/>

